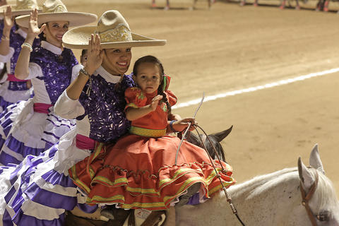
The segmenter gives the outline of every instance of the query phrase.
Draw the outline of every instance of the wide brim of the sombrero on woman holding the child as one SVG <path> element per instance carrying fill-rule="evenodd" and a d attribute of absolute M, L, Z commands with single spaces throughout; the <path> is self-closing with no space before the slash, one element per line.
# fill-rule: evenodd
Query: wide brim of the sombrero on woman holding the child
<path fill-rule="evenodd" d="M 62 37 L 64 47 L 69 49 L 89 49 L 88 40 L 90 35 L 94 34 L 96 26 L 83 26 L 80 28 L 73 28 L 66 32 Z M 131 42 L 103 42 L 102 49 L 124 48 L 124 47 L 152 47 L 162 46 L 166 44 L 166 40 L 156 40 L 152 37 L 145 37 L 143 35 L 132 34 Z"/>

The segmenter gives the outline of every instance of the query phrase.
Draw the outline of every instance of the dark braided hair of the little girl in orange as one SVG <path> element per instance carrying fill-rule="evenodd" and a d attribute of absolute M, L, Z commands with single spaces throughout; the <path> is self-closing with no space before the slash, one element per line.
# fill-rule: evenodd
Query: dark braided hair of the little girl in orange
<path fill-rule="evenodd" d="M 162 66 L 161 62 L 159 59 L 157 59 L 156 57 L 153 57 L 151 55 L 148 55 L 148 56 L 145 56 L 145 57 L 141 57 L 139 58 L 136 63 L 134 63 L 134 66 L 133 66 L 133 76 L 136 76 L 138 74 L 138 66 L 140 64 L 143 64 L 143 63 L 152 63 L 152 64 L 155 64 L 157 65 L 157 67 L 159 68 L 159 71 L 160 71 L 160 85 L 159 85 L 159 88 L 157 88 L 157 94 L 158 95 L 162 95 L 162 102 L 165 102 L 166 105 L 167 105 L 167 112 L 168 113 L 171 113 L 171 105 L 169 105 L 169 102 L 167 100 L 167 97 L 166 97 L 166 94 L 164 93 L 164 90 L 162 90 L 163 86 L 164 86 L 164 67 Z"/>

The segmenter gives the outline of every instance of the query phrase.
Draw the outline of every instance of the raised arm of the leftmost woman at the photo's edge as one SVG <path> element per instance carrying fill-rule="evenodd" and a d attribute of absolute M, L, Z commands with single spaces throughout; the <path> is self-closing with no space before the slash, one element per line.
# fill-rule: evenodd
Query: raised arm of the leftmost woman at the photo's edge
<path fill-rule="evenodd" d="M 4 30 L 2 31 L 0 42 L 0 55 L 6 56 L 9 53 L 9 37 L 13 25 L 11 6 L 7 6 L 6 12 L 4 13 Z"/>

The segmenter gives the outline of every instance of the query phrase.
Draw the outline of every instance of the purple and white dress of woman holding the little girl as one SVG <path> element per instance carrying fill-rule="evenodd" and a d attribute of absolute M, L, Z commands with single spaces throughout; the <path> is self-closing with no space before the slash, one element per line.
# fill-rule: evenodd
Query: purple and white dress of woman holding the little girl
<path fill-rule="evenodd" d="M 94 143 L 82 143 L 79 136 L 109 143 L 128 131 L 124 90 L 134 84 L 131 76 L 124 76 L 117 89 L 119 77 L 114 78 L 102 67 L 92 78 L 89 96 L 85 93 L 87 84 L 79 100 L 71 100 L 64 92 L 54 105 L 62 117 L 76 118 L 75 129 L 40 156 L 29 155 L 20 165 L 0 167 L 0 183 L 4 184 L 0 186 L 0 194 L 4 194 L 0 196 L 0 222 L 4 225 L 60 226 L 64 225 L 65 210 L 76 206 L 87 213 L 96 210 L 97 206 L 85 204 L 86 197 L 73 184 L 68 169 L 95 148 Z"/>

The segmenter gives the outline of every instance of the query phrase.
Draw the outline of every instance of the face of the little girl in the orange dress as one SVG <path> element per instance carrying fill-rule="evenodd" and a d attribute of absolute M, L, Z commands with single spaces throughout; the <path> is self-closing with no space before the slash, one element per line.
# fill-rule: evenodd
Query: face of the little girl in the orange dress
<path fill-rule="evenodd" d="M 154 93 L 160 85 L 159 66 L 153 63 L 142 63 L 138 66 L 135 81 L 145 93 Z"/>

